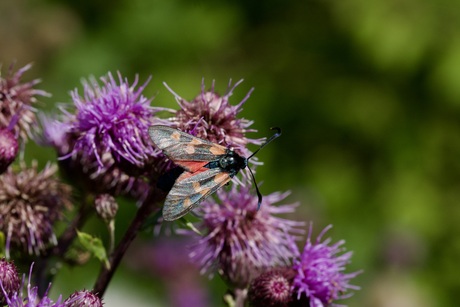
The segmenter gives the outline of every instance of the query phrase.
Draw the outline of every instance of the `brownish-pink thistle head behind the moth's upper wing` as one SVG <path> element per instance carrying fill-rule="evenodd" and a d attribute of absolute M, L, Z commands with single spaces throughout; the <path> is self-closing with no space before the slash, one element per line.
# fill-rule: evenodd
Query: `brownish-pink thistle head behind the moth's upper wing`
<path fill-rule="evenodd" d="M 211 89 L 206 91 L 203 80 L 201 93 L 192 101 L 183 99 L 168 87 L 180 106 L 180 110 L 171 119 L 172 126 L 222 146 L 233 147 L 239 154 L 249 156 L 246 145 L 260 145 L 263 139 L 247 138 L 247 132 L 255 132 L 249 129 L 253 122 L 237 118 L 252 90 L 237 105 L 231 105 L 229 102 L 233 90 L 242 81 L 232 85 L 230 80 L 227 93 L 221 96 L 214 91 L 214 82 Z"/>

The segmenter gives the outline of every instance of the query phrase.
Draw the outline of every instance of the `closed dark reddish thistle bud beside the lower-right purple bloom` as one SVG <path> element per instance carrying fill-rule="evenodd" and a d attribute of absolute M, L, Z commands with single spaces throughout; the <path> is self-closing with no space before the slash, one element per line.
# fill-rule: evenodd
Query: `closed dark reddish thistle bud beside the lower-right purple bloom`
<path fill-rule="evenodd" d="M 248 299 L 251 306 L 288 306 L 294 299 L 292 281 L 294 269 L 275 268 L 262 273 L 251 282 Z"/>

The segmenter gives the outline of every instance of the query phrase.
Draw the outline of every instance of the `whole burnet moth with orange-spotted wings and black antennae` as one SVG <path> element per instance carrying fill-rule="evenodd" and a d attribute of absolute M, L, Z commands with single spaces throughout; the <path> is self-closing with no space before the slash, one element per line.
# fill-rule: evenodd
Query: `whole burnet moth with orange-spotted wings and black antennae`
<path fill-rule="evenodd" d="M 233 149 L 180 130 L 162 125 L 151 126 L 149 135 L 153 143 L 183 169 L 166 196 L 163 219 L 173 221 L 184 216 L 202 200 L 228 183 L 240 170 L 248 166 L 248 160 L 260 149 L 281 135 L 280 128 L 271 129 L 276 130 L 276 133 L 251 156 L 245 158 Z M 260 207 L 262 195 L 251 168 L 248 169 L 256 186 Z"/>

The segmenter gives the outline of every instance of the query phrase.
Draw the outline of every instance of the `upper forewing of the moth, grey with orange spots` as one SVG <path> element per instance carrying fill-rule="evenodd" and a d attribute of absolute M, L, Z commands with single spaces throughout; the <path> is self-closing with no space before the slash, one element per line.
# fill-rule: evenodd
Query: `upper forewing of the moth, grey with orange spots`
<path fill-rule="evenodd" d="M 194 137 L 168 126 L 151 126 L 149 135 L 153 143 L 169 159 L 179 165 L 181 165 L 181 161 L 215 161 L 216 156 L 224 155 L 227 152 L 227 148 L 222 145 Z M 184 168 L 188 170 L 186 167 Z"/>

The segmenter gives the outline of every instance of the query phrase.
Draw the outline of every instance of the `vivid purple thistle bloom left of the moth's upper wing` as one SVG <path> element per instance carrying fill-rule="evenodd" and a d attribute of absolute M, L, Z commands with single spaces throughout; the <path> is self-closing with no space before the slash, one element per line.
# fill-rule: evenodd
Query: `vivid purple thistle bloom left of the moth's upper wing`
<path fill-rule="evenodd" d="M 103 86 L 94 78 L 84 81 L 83 96 L 78 90 L 72 92 L 76 114 L 67 116 L 73 120 L 70 133 L 76 139 L 68 156 L 96 160 L 104 169 L 103 154 L 108 152 L 117 163 L 143 167 L 154 154 L 147 130 L 158 111 L 142 95 L 150 79 L 137 89 L 137 76 L 132 85 L 120 73 L 118 83 L 110 73 L 101 80 Z"/>

